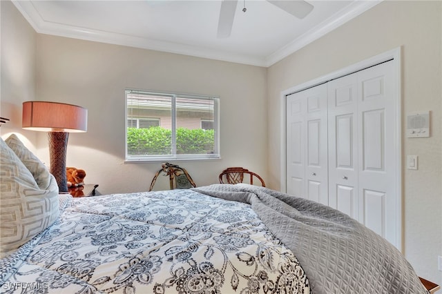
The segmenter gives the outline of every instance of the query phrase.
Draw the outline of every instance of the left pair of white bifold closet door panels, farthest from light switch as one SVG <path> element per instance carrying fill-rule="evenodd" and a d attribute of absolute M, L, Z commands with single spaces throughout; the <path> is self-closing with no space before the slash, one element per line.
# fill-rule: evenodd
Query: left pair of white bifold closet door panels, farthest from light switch
<path fill-rule="evenodd" d="M 287 96 L 287 193 L 328 205 L 327 85 Z"/>

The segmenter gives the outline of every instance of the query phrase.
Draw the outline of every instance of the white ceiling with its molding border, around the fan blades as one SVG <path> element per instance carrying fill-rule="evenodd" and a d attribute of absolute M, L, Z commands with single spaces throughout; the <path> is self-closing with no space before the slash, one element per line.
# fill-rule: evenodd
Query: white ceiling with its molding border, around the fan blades
<path fill-rule="evenodd" d="M 380 1 L 308 1 L 313 11 L 297 19 L 265 0 L 238 0 L 225 39 L 220 0 L 12 2 L 39 33 L 267 67 Z"/>

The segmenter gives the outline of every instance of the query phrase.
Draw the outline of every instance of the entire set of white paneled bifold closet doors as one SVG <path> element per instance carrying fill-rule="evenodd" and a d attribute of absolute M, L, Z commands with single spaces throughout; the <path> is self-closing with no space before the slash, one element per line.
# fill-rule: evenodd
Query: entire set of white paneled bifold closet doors
<path fill-rule="evenodd" d="M 400 244 L 400 109 L 393 61 L 287 96 L 287 193 Z"/>

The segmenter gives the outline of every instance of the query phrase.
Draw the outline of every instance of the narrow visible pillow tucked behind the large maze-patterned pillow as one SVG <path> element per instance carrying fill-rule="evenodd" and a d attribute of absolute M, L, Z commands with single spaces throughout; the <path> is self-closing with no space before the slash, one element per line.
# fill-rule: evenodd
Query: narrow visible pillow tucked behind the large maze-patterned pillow
<path fill-rule="evenodd" d="M 50 184 L 50 173 L 43 162 L 41 162 L 34 153 L 30 152 L 16 135 L 10 135 L 5 142 L 28 168 L 30 173 L 32 173 L 39 188 L 44 190 L 47 189 Z"/>

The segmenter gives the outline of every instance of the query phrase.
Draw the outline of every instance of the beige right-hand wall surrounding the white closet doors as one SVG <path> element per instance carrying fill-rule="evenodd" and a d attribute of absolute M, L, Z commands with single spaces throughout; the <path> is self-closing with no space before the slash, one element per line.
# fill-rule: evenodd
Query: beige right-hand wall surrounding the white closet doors
<path fill-rule="evenodd" d="M 281 92 L 382 52 L 402 49 L 403 242 L 422 277 L 442 284 L 441 1 L 383 1 L 340 28 L 268 68 L 269 174 L 280 187 Z M 432 136 L 405 137 L 405 115 L 431 110 Z M 419 170 L 406 170 L 419 155 Z"/>

